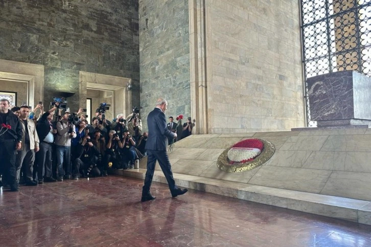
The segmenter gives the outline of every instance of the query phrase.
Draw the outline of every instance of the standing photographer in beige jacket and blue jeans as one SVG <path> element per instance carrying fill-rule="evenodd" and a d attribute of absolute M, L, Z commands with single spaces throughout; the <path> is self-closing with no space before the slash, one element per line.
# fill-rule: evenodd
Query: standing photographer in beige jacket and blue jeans
<path fill-rule="evenodd" d="M 71 139 L 76 137 L 75 125 L 71 122 L 71 113 L 66 110 L 62 120 L 57 122 L 57 135 L 55 137 L 58 181 L 71 177 Z M 63 164 L 65 170 L 63 169 Z"/>

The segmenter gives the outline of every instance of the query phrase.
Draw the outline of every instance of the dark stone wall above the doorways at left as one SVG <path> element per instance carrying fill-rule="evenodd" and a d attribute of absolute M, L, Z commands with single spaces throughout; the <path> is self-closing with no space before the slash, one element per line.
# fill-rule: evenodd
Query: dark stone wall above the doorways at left
<path fill-rule="evenodd" d="M 44 65 L 44 101 L 73 92 L 79 71 L 132 79 L 140 104 L 138 3 L 128 1 L 0 1 L 0 59 Z"/>

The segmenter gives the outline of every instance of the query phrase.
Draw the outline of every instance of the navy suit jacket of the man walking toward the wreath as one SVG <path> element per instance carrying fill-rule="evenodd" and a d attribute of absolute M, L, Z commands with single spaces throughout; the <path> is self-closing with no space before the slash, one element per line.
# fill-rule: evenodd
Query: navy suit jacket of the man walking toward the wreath
<path fill-rule="evenodd" d="M 167 138 L 174 138 L 175 134 L 168 130 L 165 114 L 161 109 L 155 108 L 148 114 L 147 150 L 166 151 Z"/>

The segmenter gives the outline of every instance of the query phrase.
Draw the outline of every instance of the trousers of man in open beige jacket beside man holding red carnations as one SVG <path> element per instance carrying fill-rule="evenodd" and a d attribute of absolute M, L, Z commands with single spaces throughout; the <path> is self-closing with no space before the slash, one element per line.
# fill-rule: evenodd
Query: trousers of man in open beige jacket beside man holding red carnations
<path fill-rule="evenodd" d="M 33 181 L 32 171 L 35 162 L 35 150 L 30 149 L 30 144 L 25 143 L 24 150 L 18 151 L 16 161 L 17 183 L 19 183 L 20 169 L 23 171 L 25 182 Z"/>

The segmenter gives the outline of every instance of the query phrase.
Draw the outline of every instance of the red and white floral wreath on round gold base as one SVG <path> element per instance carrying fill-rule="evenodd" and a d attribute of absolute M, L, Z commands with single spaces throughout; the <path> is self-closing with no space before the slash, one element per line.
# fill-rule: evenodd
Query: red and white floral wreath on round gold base
<path fill-rule="evenodd" d="M 267 162 L 274 153 L 274 145 L 263 139 L 246 139 L 224 150 L 217 166 L 226 172 L 242 172 Z"/>

